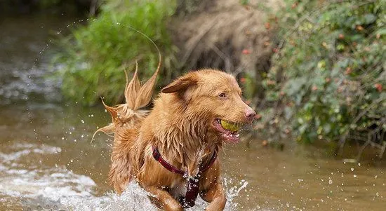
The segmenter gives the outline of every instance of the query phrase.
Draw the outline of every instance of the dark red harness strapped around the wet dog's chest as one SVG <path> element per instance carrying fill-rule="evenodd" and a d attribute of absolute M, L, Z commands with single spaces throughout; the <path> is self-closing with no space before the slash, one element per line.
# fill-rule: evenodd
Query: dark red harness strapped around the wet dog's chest
<path fill-rule="evenodd" d="M 163 165 L 164 168 L 166 168 L 167 170 L 175 174 L 179 174 L 182 176 L 187 175 L 187 172 L 183 170 L 179 170 L 178 168 L 175 168 L 173 165 L 165 161 L 164 158 L 162 158 L 161 154 L 159 153 L 157 147 L 152 147 L 152 149 L 153 149 L 153 158 L 156 159 L 156 161 L 158 161 L 159 163 L 161 163 L 161 165 Z M 217 150 L 213 152 L 213 156 L 211 157 L 211 160 L 208 163 L 206 163 L 206 165 L 203 165 L 202 163 L 200 164 L 199 173 L 194 178 L 189 178 L 187 180 L 187 191 L 186 191 L 185 197 L 180 198 L 180 204 L 182 205 L 182 207 L 189 208 L 194 206 L 194 203 L 196 202 L 197 196 L 199 194 L 199 182 L 200 182 L 201 173 L 211 168 L 213 163 L 215 163 L 216 158 L 217 158 Z"/>

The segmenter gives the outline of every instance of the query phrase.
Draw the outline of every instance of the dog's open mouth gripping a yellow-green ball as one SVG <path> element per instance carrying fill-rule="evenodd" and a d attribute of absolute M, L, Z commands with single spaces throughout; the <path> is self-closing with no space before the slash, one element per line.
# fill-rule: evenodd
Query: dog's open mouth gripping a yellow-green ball
<path fill-rule="evenodd" d="M 220 132 L 220 135 L 224 138 L 225 142 L 237 143 L 240 141 L 240 124 L 230 123 L 220 118 L 215 118 L 213 125 L 215 130 Z"/>

